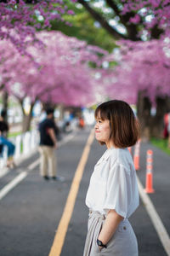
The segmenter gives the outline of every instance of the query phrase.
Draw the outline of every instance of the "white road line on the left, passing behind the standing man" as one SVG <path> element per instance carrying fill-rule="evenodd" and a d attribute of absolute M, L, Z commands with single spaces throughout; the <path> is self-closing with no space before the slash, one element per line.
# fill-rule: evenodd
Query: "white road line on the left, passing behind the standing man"
<path fill-rule="evenodd" d="M 65 143 L 68 143 L 69 141 L 71 141 L 71 139 L 73 137 L 75 137 L 76 132 L 72 133 L 71 135 L 67 136 L 64 138 L 64 140 L 62 142 L 59 142 L 59 147 L 64 145 Z M 30 166 L 27 167 L 27 169 L 31 172 L 31 170 L 33 170 L 34 168 L 36 168 L 36 166 L 38 166 L 39 164 L 39 159 L 35 160 L 33 163 L 31 163 Z M 5 195 L 8 194 L 8 192 L 10 192 L 12 189 L 14 189 L 14 187 L 16 187 L 21 181 L 23 181 L 23 179 L 25 179 L 25 177 L 28 175 L 28 172 L 21 172 L 17 177 L 15 177 L 11 182 L 9 182 L 6 186 L 3 187 L 3 189 L 0 190 L 0 200 L 3 199 L 3 197 Z M 5 172 L 3 173 L 2 177 L 7 174 L 7 170 L 5 170 Z M 1 177 L 1 176 L 0 176 Z"/>

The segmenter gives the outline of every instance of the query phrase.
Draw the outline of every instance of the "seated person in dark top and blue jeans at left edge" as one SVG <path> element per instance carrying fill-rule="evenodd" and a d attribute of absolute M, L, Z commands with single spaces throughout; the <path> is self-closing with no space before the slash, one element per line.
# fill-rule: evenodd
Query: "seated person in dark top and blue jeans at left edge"
<path fill-rule="evenodd" d="M 4 146 L 7 147 L 7 155 L 8 155 L 8 160 L 7 160 L 7 167 L 8 168 L 14 168 L 16 165 L 14 163 L 14 149 L 15 146 L 13 143 L 11 143 L 8 138 L 8 123 L 5 120 L 7 117 L 7 112 L 6 110 L 1 111 L 1 116 L 0 116 L 0 154 L 3 154 L 3 149 Z"/>

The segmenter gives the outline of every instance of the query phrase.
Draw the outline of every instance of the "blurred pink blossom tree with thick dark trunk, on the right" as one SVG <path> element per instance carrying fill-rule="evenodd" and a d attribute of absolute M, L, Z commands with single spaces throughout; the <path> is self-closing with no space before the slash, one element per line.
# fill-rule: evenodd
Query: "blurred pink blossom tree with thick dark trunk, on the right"
<path fill-rule="evenodd" d="M 143 134 L 160 137 L 170 97 L 169 39 L 119 44 L 119 65 L 111 74 L 108 93 L 137 104 Z M 112 58 L 116 60 L 116 55 Z"/>

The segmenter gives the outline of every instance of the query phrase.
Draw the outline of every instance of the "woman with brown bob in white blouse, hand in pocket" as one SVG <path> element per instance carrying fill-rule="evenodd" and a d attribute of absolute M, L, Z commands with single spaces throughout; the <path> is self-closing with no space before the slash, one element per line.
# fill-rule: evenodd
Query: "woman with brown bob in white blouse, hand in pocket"
<path fill-rule="evenodd" d="M 128 219 L 139 206 L 139 191 L 127 147 L 139 139 L 139 126 L 126 102 L 104 102 L 95 111 L 95 137 L 107 150 L 94 166 L 86 205 L 88 235 L 83 256 L 138 256 Z"/>

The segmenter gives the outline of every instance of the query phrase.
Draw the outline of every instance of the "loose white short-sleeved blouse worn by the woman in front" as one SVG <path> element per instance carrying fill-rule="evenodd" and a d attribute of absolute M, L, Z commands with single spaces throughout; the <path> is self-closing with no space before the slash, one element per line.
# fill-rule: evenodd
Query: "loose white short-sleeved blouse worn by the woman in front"
<path fill-rule="evenodd" d="M 139 190 L 132 156 L 127 148 L 105 151 L 90 179 L 86 205 L 101 214 L 114 209 L 129 218 L 139 206 Z"/>

